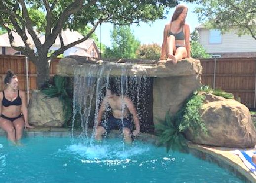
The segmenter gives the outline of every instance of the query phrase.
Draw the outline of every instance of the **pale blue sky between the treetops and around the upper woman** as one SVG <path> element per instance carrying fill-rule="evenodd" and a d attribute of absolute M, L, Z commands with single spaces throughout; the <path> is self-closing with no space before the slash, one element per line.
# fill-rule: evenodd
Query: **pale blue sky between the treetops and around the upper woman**
<path fill-rule="evenodd" d="M 198 17 L 196 13 L 193 13 L 194 8 L 196 7 L 196 3 L 183 3 L 188 6 L 188 13 L 186 17 L 186 23 L 190 27 L 190 31 L 192 32 L 196 26 L 199 25 Z M 140 23 L 140 27 L 137 25 L 132 25 L 131 30 L 133 31 L 135 37 L 141 42 L 141 44 L 151 44 L 157 43 L 162 45 L 163 41 L 163 30 L 164 26 L 167 22 L 171 20 L 175 8 L 171 8 L 169 10 L 169 14 L 167 19 L 164 20 L 156 20 L 151 25 L 146 23 Z M 110 30 L 112 30 L 112 24 L 104 23 L 102 24 L 102 43 L 111 46 L 110 41 Z M 100 39 L 100 27 L 97 27 L 95 30 L 96 35 Z"/>

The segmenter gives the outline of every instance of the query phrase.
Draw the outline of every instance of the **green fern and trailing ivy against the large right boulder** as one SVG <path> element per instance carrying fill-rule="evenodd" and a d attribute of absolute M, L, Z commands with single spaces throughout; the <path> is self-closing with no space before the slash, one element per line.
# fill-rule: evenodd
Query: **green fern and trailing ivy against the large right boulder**
<path fill-rule="evenodd" d="M 185 138 L 183 132 L 191 128 L 193 135 L 198 135 L 200 132 L 207 134 L 208 130 L 205 122 L 200 115 L 200 109 L 205 99 L 204 95 L 198 94 L 199 91 L 213 93 L 217 96 L 222 96 L 226 99 L 233 99 L 234 95 L 221 90 L 213 90 L 209 86 L 201 86 L 197 91 L 194 91 L 184 102 L 183 107 L 174 116 L 166 113 L 165 120 L 159 120 L 156 127 L 156 134 L 159 137 L 159 145 L 166 146 L 167 152 L 172 150 L 181 150 L 185 146 Z"/>

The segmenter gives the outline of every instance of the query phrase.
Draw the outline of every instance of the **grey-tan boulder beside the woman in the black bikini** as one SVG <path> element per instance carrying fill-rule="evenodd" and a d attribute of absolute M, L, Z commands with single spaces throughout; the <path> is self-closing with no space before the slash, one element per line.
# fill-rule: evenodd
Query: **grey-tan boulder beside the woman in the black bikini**
<path fill-rule="evenodd" d="M 47 97 L 41 91 L 32 91 L 29 103 L 29 122 L 35 126 L 61 127 L 65 122 L 63 104 L 58 97 Z"/>

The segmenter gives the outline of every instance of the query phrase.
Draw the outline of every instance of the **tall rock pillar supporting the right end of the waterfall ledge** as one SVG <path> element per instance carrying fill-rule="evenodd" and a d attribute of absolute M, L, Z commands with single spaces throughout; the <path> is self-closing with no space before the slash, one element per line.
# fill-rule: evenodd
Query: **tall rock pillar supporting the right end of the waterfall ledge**
<path fill-rule="evenodd" d="M 164 65 L 168 71 L 157 69 L 153 80 L 153 121 L 165 119 L 166 112 L 177 113 L 189 95 L 201 86 L 202 66 L 199 60 L 186 59 Z"/>

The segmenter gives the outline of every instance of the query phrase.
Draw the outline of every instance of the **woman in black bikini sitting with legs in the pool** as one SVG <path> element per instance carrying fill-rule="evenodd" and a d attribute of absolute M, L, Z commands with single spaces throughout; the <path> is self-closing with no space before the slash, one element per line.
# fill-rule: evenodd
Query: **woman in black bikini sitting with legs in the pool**
<path fill-rule="evenodd" d="M 4 79 L 6 89 L 0 92 L 0 128 L 12 142 L 21 139 L 23 129 L 34 128 L 28 122 L 26 94 L 18 90 L 18 78 L 8 71 Z M 22 111 L 22 113 L 21 113 Z"/>

